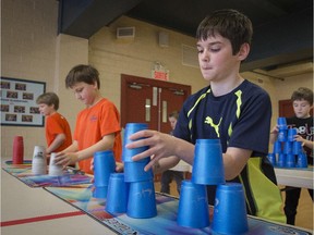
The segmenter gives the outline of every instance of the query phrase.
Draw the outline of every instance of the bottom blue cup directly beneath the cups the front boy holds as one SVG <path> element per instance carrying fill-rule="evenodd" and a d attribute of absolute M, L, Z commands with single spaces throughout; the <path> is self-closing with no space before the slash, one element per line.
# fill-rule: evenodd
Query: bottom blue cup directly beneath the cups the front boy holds
<path fill-rule="evenodd" d="M 126 215 L 145 219 L 157 215 L 155 187 L 153 181 L 132 182 L 129 184 Z"/>

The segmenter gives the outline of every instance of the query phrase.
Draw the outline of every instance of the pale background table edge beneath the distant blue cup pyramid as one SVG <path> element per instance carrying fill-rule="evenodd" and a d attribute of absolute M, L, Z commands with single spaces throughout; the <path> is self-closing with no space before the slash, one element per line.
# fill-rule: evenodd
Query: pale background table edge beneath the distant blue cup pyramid
<path fill-rule="evenodd" d="M 275 168 L 278 185 L 313 189 L 313 168 Z"/>

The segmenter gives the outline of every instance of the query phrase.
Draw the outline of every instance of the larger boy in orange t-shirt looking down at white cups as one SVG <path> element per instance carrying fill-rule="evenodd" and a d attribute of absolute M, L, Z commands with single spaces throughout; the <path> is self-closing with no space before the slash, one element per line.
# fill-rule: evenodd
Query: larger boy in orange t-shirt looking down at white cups
<path fill-rule="evenodd" d="M 101 97 L 98 71 L 76 65 L 69 72 L 65 86 L 86 108 L 77 114 L 73 144 L 57 154 L 56 163 L 67 166 L 78 162 L 82 171 L 93 174 L 93 156 L 104 150 L 112 150 L 116 161 L 121 162 L 120 114 L 111 101 Z"/>

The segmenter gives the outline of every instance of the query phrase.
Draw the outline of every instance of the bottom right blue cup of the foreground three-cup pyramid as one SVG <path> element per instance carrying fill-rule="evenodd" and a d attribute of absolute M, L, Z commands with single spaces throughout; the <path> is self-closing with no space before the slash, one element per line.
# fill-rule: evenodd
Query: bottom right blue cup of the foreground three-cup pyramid
<path fill-rule="evenodd" d="M 219 234 L 243 234 L 249 231 L 241 184 L 228 183 L 217 186 L 212 230 Z"/>

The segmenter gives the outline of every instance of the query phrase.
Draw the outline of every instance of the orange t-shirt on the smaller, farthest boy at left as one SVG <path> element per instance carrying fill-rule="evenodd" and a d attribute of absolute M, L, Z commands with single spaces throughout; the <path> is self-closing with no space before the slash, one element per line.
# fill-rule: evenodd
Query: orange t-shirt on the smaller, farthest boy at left
<path fill-rule="evenodd" d="M 58 134 L 64 134 L 65 140 L 59 148 L 55 149 L 55 152 L 62 151 L 72 145 L 72 135 L 70 125 L 64 116 L 56 112 L 46 118 L 46 141 L 50 146 Z"/>

